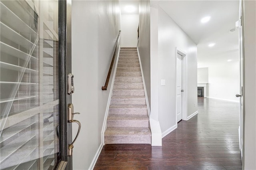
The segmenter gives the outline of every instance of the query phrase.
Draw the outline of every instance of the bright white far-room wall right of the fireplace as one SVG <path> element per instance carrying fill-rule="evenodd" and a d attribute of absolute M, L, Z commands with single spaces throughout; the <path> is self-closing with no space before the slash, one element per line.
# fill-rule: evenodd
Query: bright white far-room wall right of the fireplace
<path fill-rule="evenodd" d="M 237 56 L 238 51 L 225 53 Z M 239 102 L 235 95 L 240 92 L 239 61 L 230 61 L 209 66 L 209 84 L 207 97 Z"/>

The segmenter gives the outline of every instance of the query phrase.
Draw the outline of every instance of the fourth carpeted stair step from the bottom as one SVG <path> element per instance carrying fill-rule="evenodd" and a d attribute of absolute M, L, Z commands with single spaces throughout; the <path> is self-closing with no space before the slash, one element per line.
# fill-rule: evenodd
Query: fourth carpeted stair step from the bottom
<path fill-rule="evenodd" d="M 145 96 L 112 96 L 110 105 L 146 105 Z"/>

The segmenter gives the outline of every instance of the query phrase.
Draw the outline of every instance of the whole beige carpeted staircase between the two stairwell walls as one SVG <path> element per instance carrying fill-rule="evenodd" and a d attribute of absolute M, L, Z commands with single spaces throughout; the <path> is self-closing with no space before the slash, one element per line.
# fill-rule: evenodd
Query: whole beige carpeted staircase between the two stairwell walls
<path fill-rule="evenodd" d="M 136 48 L 121 48 L 108 111 L 105 144 L 151 144 L 148 110 Z"/>

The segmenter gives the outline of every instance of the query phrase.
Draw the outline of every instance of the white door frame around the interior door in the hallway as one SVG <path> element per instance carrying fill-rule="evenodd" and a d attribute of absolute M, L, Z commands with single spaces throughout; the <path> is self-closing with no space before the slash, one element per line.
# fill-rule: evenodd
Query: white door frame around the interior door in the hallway
<path fill-rule="evenodd" d="M 177 87 L 177 54 L 180 54 L 182 56 L 182 89 L 184 92 L 182 93 L 182 120 L 187 121 L 188 120 L 188 113 L 187 113 L 187 104 L 188 104 L 188 74 L 187 74 L 187 54 L 180 49 L 179 47 L 176 47 L 175 49 L 175 81 L 176 81 L 176 87 Z M 175 87 L 175 88 L 176 88 Z M 177 92 L 176 96 L 177 96 Z M 175 96 L 176 101 L 176 124 L 177 124 L 177 98 Z"/>

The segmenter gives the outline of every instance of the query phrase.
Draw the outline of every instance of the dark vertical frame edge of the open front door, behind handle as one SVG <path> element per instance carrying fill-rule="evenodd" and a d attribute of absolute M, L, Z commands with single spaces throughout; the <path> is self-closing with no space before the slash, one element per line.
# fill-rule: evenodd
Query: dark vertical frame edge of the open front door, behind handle
<path fill-rule="evenodd" d="M 59 29 L 59 128 L 60 128 L 60 162 L 57 170 L 72 170 L 72 156 L 68 156 L 68 146 L 72 143 L 72 123 L 68 123 L 68 103 L 72 103 L 72 95 L 68 95 L 68 73 L 72 73 L 71 58 L 71 0 L 58 1 Z"/>

